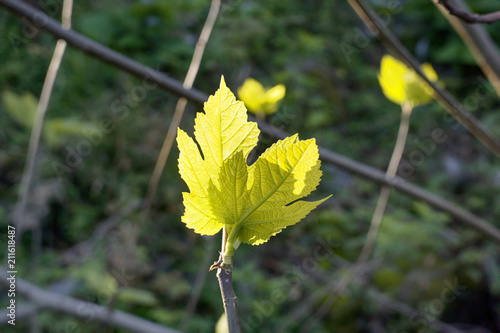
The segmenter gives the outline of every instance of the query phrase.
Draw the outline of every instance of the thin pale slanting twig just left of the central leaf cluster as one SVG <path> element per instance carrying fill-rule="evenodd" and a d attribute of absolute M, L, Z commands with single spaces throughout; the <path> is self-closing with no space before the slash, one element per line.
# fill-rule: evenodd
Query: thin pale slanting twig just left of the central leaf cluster
<path fill-rule="evenodd" d="M 196 74 L 198 73 L 198 70 L 200 68 L 201 59 L 203 58 L 205 46 L 207 45 L 208 39 L 210 38 L 210 34 L 212 33 L 212 29 L 215 24 L 215 20 L 217 19 L 217 14 L 219 13 L 219 8 L 220 8 L 220 0 L 212 0 L 212 4 L 210 5 L 210 10 L 208 12 L 207 19 L 200 33 L 200 38 L 198 38 L 198 42 L 196 43 L 196 47 L 193 53 L 193 59 L 191 59 L 191 64 L 189 65 L 186 78 L 184 79 L 184 83 L 182 85 L 185 89 L 191 89 L 193 87 Z M 187 105 L 187 98 L 185 97 L 179 98 L 179 100 L 177 101 L 177 105 L 175 107 L 175 112 L 172 117 L 172 121 L 170 122 L 170 126 L 168 127 L 167 135 L 165 136 L 165 140 L 163 141 L 163 146 L 161 147 L 160 155 L 156 160 L 156 165 L 153 170 L 153 174 L 151 175 L 151 178 L 149 180 L 148 189 L 146 191 L 146 198 L 144 201 L 144 210 L 142 214 L 143 220 L 146 219 L 147 215 L 149 214 L 149 210 L 151 209 L 153 197 L 156 194 L 158 183 L 160 182 L 163 169 L 165 168 L 165 164 L 167 163 L 168 155 L 170 154 L 170 150 L 172 149 L 172 144 L 175 139 L 175 134 L 182 120 L 182 116 L 184 115 L 184 110 L 186 109 L 186 105 Z"/>

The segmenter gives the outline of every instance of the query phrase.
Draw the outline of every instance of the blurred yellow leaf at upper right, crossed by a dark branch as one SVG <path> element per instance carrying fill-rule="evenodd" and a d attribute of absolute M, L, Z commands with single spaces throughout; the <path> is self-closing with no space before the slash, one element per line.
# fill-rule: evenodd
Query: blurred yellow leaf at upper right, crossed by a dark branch
<path fill-rule="evenodd" d="M 421 68 L 429 80 L 438 80 L 430 64 L 423 64 Z M 408 102 L 417 106 L 427 104 L 433 99 L 432 88 L 413 69 L 390 55 L 382 57 L 378 80 L 385 97 L 396 104 Z"/>

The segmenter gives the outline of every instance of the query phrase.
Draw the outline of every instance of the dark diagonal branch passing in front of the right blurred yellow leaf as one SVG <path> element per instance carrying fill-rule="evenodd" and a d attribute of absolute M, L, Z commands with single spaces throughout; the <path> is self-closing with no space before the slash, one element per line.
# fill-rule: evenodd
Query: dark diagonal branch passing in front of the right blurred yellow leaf
<path fill-rule="evenodd" d="M 430 81 L 422 72 L 420 64 L 413 55 L 406 49 L 401 41 L 389 30 L 382 18 L 373 10 L 364 0 L 348 0 L 356 14 L 363 20 L 367 27 L 372 29 L 384 45 L 406 65 L 427 82 L 434 90 L 436 100 L 451 114 L 459 123 L 461 123 L 473 136 L 476 137 L 491 152 L 500 156 L 500 143 L 488 133 L 481 123 L 469 112 L 467 112 L 460 103 L 451 96 L 445 89 L 437 86 L 435 82 Z M 375 30 L 375 31 L 373 31 Z"/>

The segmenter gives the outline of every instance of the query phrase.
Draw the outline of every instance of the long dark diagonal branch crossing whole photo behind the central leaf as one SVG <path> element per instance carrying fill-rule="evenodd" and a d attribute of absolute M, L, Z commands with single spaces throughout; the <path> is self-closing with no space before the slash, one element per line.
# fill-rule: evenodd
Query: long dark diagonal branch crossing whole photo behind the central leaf
<path fill-rule="evenodd" d="M 121 68 L 128 73 L 139 76 L 145 80 L 150 80 L 158 84 L 164 90 L 184 96 L 198 104 L 203 104 L 208 95 L 196 89 L 185 89 L 182 84 L 171 77 L 162 74 L 154 69 L 144 66 L 118 52 L 90 40 L 81 34 L 72 30 L 63 30 L 56 21 L 49 18 L 43 12 L 34 9 L 23 2 L 16 0 L 0 0 L 0 5 L 8 8 L 10 11 L 21 14 L 27 20 L 35 24 L 38 28 L 44 29 L 58 38 L 65 39 L 69 45 L 86 52 L 98 59 L 101 59 L 115 67 Z M 420 70 L 419 70 L 420 71 Z M 255 117 L 249 116 L 249 119 L 256 121 Z M 269 125 L 263 121 L 257 121 L 259 128 L 263 133 L 282 139 L 289 136 L 288 133 Z M 388 178 L 385 172 L 375 169 L 366 164 L 354 161 L 346 156 L 337 154 L 331 150 L 320 147 L 320 157 L 323 161 L 336 165 L 342 169 L 348 170 L 358 176 L 369 179 L 378 184 L 386 184 L 392 188 L 404 193 L 412 198 L 426 202 L 431 207 L 449 213 L 457 221 L 460 221 L 473 229 L 481 232 L 490 239 L 500 243 L 500 231 L 480 217 L 454 205 L 448 200 L 434 195 L 416 185 L 408 183 L 401 177 Z"/>

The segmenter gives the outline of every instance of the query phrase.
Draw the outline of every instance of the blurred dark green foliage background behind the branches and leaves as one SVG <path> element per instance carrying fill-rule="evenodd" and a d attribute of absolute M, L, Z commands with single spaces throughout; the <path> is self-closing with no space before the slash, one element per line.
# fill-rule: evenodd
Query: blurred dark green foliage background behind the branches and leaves
<path fill-rule="evenodd" d="M 498 97 L 432 2 L 372 2 L 419 60 L 432 63 L 447 89 L 498 134 Z M 469 3 L 477 12 L 498 10 L 495 1 Z M 76 2 L 73 26 L 182 81 L 209 5 L 201 0 Z M 50 14 L 59 19 L 60 8 Z M 498 25 L 486 28 L 498 44 Z M 27 35 L 27 29 L 0 11 L 0 33 L 7 37 L 0 45 L 2 230 L 17 201 L 34 96 L 39 96 L 55 45 L 52 36 Z M 213 93 L 221 74 L 233 90 L 248 77 L 264 86 L 284 84 L 286 96 L 267 118 L 271 124 L 299 132 L 301 138 L 316 137 L 321 146 L 385 169 L 400 115 L 377 81 L 385 53 L 345 1 L 234 0 L 222 4 L 195 87 Z M 128 241 L 125 231 L 140 223 L 140 214 L 124 213 L 144 197 L 176 101 L 176 96 L 142 79 L 67 49 L 28 205 L 30 216 L 42 226 L 41 251 L 33 257 L 32 232 L 18 239 L 19 277 L 47 288 L 70 279 L 77 282 L 75 297 L 105 306 L 113 302 L 117 309 L 179 327 L 200 263 L 206 255 L 215 260 L 218 254 L 180 222 L 181 192 L 186 188 L 178 175 L 175 149 L 137 245 Z M 194 112 L 200 111 L 192 104 L 188 110 L 183 128 L 192 128 Z M 433 139 L 436 129 L 444 133 L 443 142 Z M 258 153 L 273 141 L 264 136 Z M 500 227 L 498 159 L 437 103 L 412 115 L 402 163 L 409 181 Z M 326 207 L 268 244 L 244 245 L 236 254 L 234 283 L 245 332 L 275 332 L 284 324 L 287 332 L 299 331 L 325 300 L 328 292 L 323 288 L 346 273 L 338 260 L 353 261 L 359 254 L 379 187 L 334 166 L 322 169 L 322 193 L 317 197 L 334 193 Z M 47 186 L 51 180 L 56 185 Z M 107 218 L 122 214 L 99 234 Z M 87 240 L 90 248 L 70 255 Z M 4 260 L 5 251 L 0 253 Z M 363 281 L 419 312 L 408 318 L 391 311 L 355 282 L 314 332 L 364 332 L 377 323 L 388 332 L 432 332 L 429 323 L 436 318 L 460 322 L 470 317 L 461 315 L 470 309 L 486 316 L 488 304 L 496 307 L 498 320 L 498 247 L 448 215 L 394 192 L 373 257 L 376 267 Z M 212 273 L 189 332 L 213 332 L 223 311 Z M 449 288 L 447 281 L 458 281 L 465 289 L 455 288 L 459 297 L 444 303 L 442 312 L 431 311 Z M 315 292 L 323 297 L 291 318 Z M 41 311 L 38 318 L 44 332 L 102 331 L 96 321 L 51 311 Z M 468 323 L 494 320 L 477 318 Z M 15 327 L 16 332 L 27 330 L 27 321 Z"/>

